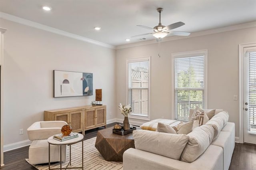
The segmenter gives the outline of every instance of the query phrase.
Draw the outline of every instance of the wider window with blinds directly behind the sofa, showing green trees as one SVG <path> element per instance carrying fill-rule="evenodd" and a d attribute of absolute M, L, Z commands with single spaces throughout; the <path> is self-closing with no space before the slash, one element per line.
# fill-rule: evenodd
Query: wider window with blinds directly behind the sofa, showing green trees
<path fill-rule="evenodd" d="M 206 108 L 207 50 L 172 54 L 174 119 L 188 121 L 189 109 Z"/>

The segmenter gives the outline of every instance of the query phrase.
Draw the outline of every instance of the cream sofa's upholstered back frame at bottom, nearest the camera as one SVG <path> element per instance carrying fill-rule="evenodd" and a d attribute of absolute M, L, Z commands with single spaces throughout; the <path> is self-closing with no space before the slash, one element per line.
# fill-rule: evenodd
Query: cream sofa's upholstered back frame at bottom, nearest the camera
<path fill-rule="evenodd" d="M 194 162 L 182 162 L 129 148 L 123 154 L 124 170 L 223 170 L 223 151 L 219 146 L 210 145 Z"/>

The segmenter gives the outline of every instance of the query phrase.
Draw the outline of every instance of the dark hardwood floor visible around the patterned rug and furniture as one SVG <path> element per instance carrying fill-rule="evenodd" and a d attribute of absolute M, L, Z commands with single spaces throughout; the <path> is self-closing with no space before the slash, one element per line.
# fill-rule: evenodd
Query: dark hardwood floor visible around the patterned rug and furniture
<path fill-rule="evenodd" d="M 108 124 L 107 127 L 113 127 L 116 123 Z M 104 127 L 87 130 L 84 140 L 95 137 L 98 130 Z M 36 170 L 28 164 L 25 158 L 28 158 L 28 147 L 25 146 L 8 152 L 4 152 L 3 170 Z M 256 145 L 236 143 L 229 170 L 256 170 Z"/>

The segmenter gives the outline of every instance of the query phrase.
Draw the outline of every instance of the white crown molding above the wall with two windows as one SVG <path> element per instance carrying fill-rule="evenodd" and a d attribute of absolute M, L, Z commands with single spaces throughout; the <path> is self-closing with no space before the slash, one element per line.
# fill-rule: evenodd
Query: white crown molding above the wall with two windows
<path fill-rule="evenodd" d="M 221 32 L 228 32 L 228 31 L 234 31 L 234 30 L 241 30 L 241 29 L 252 28 L 252 27 L 256 27 L 256 21 L 255 22 L 247 22 L 244 24 L 233 25 L 233 26 L 222 27 L 222 28 L 216 28 L 216 29 L 212 29 L 212 30 L 194 32 L 194 33 L 191 33 L 190 36 L 171 36 L 171 37 L 163 38 L 161 42 L 169 42 L 169 41 L 180 40 L 180 39 L 185 39 L 185 38 L 193 38 L 193 37 L 217 34 L 217 33 L 221 33 Z M 153 43 L 158 43 L 158 42 L 156 42 L 156 40 L 150 40 L 150 41 L 144 41 L 144 42 L 138 42 L 138 43 L 130 43 L 130 44 L 126 44 L 126 45 L 116 46 L 116 49 L 137 47 L 137 46 L 148 45 L 148 44 L 153 44 Z"/>

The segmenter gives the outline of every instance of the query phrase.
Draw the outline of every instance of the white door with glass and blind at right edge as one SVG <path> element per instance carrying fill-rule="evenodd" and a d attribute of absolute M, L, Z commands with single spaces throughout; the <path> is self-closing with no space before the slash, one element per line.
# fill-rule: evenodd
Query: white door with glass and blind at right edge
<path fill-rule="evenodd" d="M 244 47 L 244 142 L 256 144 L 256 46 Z"/>

